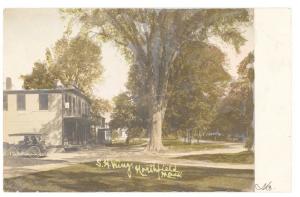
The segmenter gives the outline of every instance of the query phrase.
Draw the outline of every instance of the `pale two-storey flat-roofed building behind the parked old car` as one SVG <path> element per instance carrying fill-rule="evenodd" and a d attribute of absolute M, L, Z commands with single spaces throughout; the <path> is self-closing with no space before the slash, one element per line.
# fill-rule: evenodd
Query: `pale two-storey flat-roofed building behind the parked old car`
<path fill-rule="evenodd" d="M 90 101 L 76 88 L 3 91 L 4 142 L 35 132 L 47 145 L 84 145 L 90 137 Z"/>

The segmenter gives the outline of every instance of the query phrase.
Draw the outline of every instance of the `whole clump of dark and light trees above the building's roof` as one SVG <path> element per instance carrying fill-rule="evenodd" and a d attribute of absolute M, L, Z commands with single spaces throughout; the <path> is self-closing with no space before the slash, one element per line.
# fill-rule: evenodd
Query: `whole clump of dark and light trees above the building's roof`
<path fill-rule="evenodd" d="M 64 36 L 47 49 L 45 60 L 34 64 L 31 74 L 21 76 L 25 89 L 55 88 L 60 81 L 91 95 L 92 86 L 101 78 L 101 49 L 88 37 Z"/>

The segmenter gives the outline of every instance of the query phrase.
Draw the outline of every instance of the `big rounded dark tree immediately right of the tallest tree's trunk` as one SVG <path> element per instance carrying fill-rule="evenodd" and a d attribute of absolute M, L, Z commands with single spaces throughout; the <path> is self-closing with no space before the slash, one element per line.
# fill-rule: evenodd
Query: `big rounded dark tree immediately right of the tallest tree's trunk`
<path fill-rule="evenodd" d="M 201 42 L 187 43 L 175 61 L 170 78 L 164 126 L 167 131 L 200 139 L 216 116 L 216 105 L 230 75 L 224 70 L 225 54 Z"/>

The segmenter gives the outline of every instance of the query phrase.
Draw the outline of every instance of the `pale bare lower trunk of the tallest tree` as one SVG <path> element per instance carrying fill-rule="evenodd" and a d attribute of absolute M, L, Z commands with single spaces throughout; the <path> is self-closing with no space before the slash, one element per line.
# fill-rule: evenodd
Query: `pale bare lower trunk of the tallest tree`
<path fill-rule="evenodd" d="M 162 123 L 164 110 L 157 110 L 152 114 L 152 122 L 150 125 L 150 141 L 147 146 L 148 151 L 159 152 L 165 150 L 162 144 Z"/>

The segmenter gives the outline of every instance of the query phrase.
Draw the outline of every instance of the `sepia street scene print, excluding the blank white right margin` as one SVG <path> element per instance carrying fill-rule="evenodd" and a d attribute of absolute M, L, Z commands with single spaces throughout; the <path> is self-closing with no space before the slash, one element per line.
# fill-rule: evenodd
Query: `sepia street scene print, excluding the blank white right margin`
<path fill-rule="evenodd" d="M 3 18 L 5 192 L 257 189 L 254 9 Z"/>

